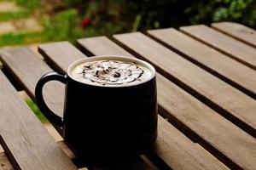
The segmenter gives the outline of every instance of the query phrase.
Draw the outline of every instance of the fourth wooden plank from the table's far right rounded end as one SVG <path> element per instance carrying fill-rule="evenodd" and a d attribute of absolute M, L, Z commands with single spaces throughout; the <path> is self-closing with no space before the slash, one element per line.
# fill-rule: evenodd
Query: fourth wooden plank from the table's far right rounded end
<path fill-rule="evenodd" d="M 157 71 L 256 137 L 256 100 L 140 32 L 114 36 Z"/>

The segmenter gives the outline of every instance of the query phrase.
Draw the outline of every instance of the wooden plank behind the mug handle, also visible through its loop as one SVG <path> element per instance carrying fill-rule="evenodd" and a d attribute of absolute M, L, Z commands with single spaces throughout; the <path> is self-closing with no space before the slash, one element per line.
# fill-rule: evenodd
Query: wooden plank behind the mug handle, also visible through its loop
<path fill-rule="evenodd" d="M 0 51 L 4 67 L 20 82 L 26 93 L 35 101 L 35 88 L 38 80 L 51 68 L 39 59 L 30 48 L 9 48 Z M 58 90 L 59 94 L 55 91 Z M 44 86 L 44 100 L 49 108 L 62 116 L 64 107 L 64 85 L 49 82 Z M 61 101 L 61 102 L 60 102 Z"/>

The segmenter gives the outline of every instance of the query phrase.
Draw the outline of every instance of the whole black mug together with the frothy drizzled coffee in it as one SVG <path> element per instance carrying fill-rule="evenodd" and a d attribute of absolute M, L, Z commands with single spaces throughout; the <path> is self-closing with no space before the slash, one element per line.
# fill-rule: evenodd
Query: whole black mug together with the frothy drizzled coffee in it
<path fill-rule="evenodd" d="M 63 117 L 45 104 L 43 89 L 50 81 L 65 84 Z M 81 159 L 112 166 L 152 150 L 157 138 L 155 70 L 143 60 L 117 55 L 76 60 L 65 75 L 50 71 L 41 77 L 35 97 Z"/>

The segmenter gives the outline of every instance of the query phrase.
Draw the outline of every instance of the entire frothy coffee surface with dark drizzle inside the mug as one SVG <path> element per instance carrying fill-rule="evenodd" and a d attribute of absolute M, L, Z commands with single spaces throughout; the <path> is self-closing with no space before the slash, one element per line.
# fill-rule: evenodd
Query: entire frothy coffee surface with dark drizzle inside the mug
<path fill-rule="evenodd" d="M 152 77 L 144 65 L 115 59 L 85 62 L 75 66 L 71 74 L 79 82 L 102 86 L 137 84 Z"/>

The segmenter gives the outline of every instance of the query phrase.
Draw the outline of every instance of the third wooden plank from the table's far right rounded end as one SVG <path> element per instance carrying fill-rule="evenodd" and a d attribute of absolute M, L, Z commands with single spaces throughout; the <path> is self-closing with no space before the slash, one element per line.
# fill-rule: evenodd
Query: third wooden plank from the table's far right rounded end
<path fill-rule="evenodd" d="M 148 31 L 148 33 L 195 65 L 212 72 L 256 99 L 256 71 L 173 28 Z"/>

